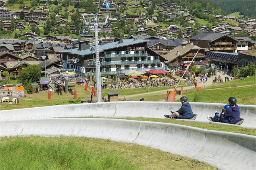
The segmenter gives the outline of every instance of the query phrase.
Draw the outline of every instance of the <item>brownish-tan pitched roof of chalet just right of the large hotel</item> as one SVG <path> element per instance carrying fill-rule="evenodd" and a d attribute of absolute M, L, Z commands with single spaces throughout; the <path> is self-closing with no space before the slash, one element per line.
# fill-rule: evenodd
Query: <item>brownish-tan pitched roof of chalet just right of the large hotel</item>
<path fill-rule="evenodd" d="M 182 45 L 174 48 L 170 53 L 168 53 L 167 55 L 164 55 L 163 57 L 165 59 L 167 59 L 168 63 L 173 61 L 174 59 L 176 59 L 179 56 L 184 55 L 185 53 L 187 53 L 188 51 L 190 51 L 191 49 L 202 49 L 196 45 L 192 45 L 192 44 L 187 44 L 184 47 Z M 179 55 L 177 55 L 177 51 L 179 51 Z"/>

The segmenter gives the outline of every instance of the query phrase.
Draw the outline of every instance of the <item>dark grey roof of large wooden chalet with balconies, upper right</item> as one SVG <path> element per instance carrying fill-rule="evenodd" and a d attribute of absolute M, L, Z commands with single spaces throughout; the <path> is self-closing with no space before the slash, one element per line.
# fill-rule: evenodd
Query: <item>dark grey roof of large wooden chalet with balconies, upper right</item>
<path fill-rule="evenodd" d="M 235 41 L 238 41 L 237 39 L 235 39 L 225 33 L 201 33 L 201 34 L 191 37 L 190 40 L 214 41 L 223 36 L 228 36 L 228 37 L 234 39 Z"/>

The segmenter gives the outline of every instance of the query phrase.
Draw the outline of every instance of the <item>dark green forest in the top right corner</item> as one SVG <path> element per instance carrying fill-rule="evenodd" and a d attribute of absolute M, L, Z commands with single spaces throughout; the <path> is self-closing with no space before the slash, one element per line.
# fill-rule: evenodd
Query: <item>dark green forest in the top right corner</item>
<path fill-rule="evenodd" d="M 212 0 L 216 6 L 219 6 L 225 14 L 240 12 L 241 15 L 255 18 L 255 0 Z"/>

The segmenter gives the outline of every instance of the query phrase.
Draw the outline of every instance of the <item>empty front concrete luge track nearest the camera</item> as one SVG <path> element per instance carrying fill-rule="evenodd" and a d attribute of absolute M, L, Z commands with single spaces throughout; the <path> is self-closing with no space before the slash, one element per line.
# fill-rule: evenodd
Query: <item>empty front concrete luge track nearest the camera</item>
<path fill-rule="evenodd" d="M 256 137 L 251 135 L 121 119 L 54 118 L 0 121 L 2 137 L 30 135 L 111 139 L 187 156 L 221 169 L 256 168 Z"/>

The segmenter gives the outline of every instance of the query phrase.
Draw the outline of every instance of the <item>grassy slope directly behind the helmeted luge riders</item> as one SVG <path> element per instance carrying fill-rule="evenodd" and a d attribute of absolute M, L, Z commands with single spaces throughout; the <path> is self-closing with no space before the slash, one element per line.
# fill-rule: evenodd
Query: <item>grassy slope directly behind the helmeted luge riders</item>
<path fill-rule="evenodd" d="M 223 82 L 219 84 L 214 84 L 214 86 L 207 86 L 205 89 L 202 88 L 201 91 L 187 92 L 183 93 L 184 96 L 189 98 L 190 102 L 194 102 L 195 94 L 199 95 L 199 100 L 196 102 L 212 102 L 212 103 L 227 103 L 227 99 L 230 96 L 237 98 L 238 104 L 256 104 L 256 84 L 255 76 L 245 78 L 245 80 L 235 80 L 229 82 Z M 209 78 L 208 81 L 212 81 Z M 235 85 L 235 86 L 233 86 Z M 239 87 L 252 85 L 249 87 Z M 236 87 L 237 86 L 237 87 Z M 180 86 L 179 86 L 180 87 Z M 178 87 L 178 88 L 179 88 Z M 223 88 L 223 89 L 218 89 Z M 144 101 L 164 101 L 167 98 L 167 94 L 142 94 Z M 127 96 L 127 101 L 139 101 L 141 96 Z M 177 97 L 177 96 L 176 96 Z M 176 98 L 179 101 L 179 97 Z"/>

